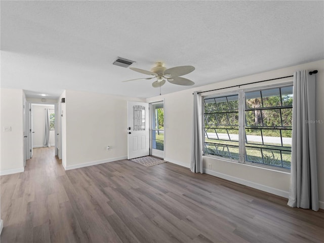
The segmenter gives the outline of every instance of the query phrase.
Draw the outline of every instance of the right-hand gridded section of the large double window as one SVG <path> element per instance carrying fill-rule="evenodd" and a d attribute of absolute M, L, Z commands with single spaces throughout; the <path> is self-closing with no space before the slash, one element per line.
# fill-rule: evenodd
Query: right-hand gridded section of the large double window
<path fill-rule="evenodd" d="M 290 169 L 292 92 L 292 86 L 246 92 L 246 161 Z"/>

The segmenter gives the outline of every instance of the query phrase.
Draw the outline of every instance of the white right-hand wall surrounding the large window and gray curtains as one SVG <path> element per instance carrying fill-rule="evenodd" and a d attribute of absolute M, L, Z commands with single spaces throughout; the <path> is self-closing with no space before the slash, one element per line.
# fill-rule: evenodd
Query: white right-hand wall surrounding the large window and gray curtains
<path fill-rule="evenodd" d="M 146 99 L 147 102 L 155 102 L 165 98 L 165 159 L 172 163 L 190 168 L 193 91 L 208 91 L 276 77 L 289 76 L 293 75 L 294 71 L 303 69 L 318 70 L 318 74 L 316 74 L 316 119 L 324 121 L 324 60 L 258 73 L 246 77 L 239 77 L 204 87 Z M 292 80 L 292 78 L 286 78 L 268 83 L 275 84 L 289 79 Z M 265 84 L 266 83 L 263 83 L 261 85 Z M 254 87 L 255 86 L 256 85 L 254 85 Z M 245 88 L 250 87 L 253 86 L 245 86 Z M 234 89 L 228 89 L 226 91 L 230 90 Z M 220 92 L 225 92 L 225 90 Z M 319 200 L 320 207 L 324 208 L 324 164 L 322 163 L 322 161 L 324 161 L 324 124 L 316 125 L 316 134 Z M 204 156 L 203 160 L 205 171 L 208 174 L 288 197 L 290 173 L 233 163 L 207 156 Z M 206 165 L 209 163 L 212 165 L 212 169 L 207 169 Z"/>

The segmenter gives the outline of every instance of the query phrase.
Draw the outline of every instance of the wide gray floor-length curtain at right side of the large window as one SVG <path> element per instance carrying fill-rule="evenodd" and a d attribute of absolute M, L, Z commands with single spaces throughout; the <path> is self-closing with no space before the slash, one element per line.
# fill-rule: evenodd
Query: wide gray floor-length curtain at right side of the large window
<path fill-rule="evenodd" d="M 315 75 L 295 72 L 288 205 L 318 211 L 315 124 Z"/>

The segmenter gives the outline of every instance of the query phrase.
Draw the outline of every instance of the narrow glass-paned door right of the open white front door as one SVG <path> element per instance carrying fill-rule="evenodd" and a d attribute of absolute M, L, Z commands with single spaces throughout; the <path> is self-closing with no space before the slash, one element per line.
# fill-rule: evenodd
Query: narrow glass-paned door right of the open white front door
<path fill-rule="evenodd" d="M 164 159 L 164 101 L 150 103 L 150 155 Z"/>

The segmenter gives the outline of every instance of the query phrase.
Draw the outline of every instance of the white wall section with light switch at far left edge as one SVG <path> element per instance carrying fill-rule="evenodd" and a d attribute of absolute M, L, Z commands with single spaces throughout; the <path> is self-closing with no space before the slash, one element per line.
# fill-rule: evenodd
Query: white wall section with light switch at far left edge
<path fill-rule="evenodd" d="M 23 172 L 23 91 L 2 88 L 0 112 L 0 174 Z M 5 127 L 11 127 L 11 132 L 4 132 Z"/>

